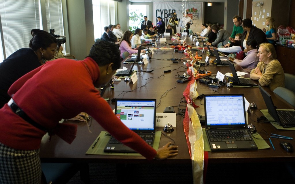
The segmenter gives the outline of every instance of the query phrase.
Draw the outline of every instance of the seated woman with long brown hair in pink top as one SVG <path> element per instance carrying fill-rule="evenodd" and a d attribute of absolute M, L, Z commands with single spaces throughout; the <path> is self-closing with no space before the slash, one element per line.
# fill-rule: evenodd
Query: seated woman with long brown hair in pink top
<path fill-rule="evenodd" d="M 133 33 L 131 31 L 125 31 L 123 34 L 123 37 L 119 43 L 119 49 L 120 49 L 120 57 L 122 59 L 122 55 L 124 52 L 129 52 L 131 53 L 137 53 L 139 45 L 137 45 L 136 48 L 132 49 L 131 48 L 131 39 L 132 39 Z M 144 50 L 141 50 L 141 52 L 145 52 Z"/>

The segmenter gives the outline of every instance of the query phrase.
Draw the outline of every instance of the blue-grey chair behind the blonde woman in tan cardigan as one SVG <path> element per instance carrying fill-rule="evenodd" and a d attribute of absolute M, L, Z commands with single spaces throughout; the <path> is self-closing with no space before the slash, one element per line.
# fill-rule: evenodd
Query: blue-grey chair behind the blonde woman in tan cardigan
<path fill-rule="evenodd" d="M 289 104 L 295 107 L 295 86 L 293 84 L 295 75 L 285 73 L 285 87 L 277 87 L 273 90 L 278 96 L 286 100 Z"/>

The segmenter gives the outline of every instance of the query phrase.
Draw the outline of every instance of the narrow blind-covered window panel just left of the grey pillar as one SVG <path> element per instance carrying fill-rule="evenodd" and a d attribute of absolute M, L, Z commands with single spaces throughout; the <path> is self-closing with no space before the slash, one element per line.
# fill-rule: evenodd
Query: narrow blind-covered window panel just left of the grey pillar
<path fill-rule="evenodd" d="M 63 31 L 63 14 L 61 0 L 45 0 L 47 31 L 54 29 L 54 34 L 64 36 Z M 65 44 L 63 46 L 63 54 L 65 54 Z"/>

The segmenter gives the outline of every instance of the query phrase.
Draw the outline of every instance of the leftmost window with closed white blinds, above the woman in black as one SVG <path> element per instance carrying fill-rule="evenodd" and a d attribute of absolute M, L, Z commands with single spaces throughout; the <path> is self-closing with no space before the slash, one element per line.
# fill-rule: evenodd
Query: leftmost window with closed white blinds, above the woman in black
<path fill-rule="evenodd" d="M 16 50 L 29 47 L 31 30 L 41 29 L 39 7 L 39 0 L 0 0 L 0 31 L 4 42 L 0 62 Z"/>

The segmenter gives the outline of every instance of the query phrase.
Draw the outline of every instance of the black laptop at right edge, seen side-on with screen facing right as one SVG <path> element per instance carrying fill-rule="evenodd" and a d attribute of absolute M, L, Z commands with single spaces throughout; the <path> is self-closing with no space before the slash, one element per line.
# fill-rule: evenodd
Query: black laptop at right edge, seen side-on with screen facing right
<path fill-rule="evenodd" d="M 295 127 L 294 109 L 292 111 L 276 110 L 276 106 L 273 104 L 271 95 L 268 92 L 266 92 L 261 86 L 258 87 L 268 109 L 268 114 L 270 114 L 281 127 Z"/>

